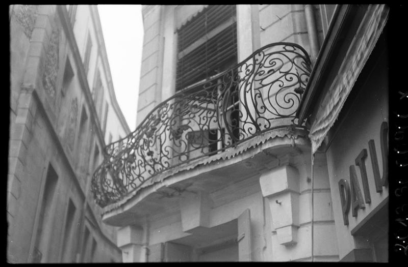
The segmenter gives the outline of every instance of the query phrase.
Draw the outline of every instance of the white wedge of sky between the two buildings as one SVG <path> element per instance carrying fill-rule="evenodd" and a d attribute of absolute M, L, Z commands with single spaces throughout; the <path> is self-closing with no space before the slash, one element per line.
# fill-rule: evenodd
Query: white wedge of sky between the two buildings
<path fill-rule="evenodd" d="M 136 128 L 143 47 L 141 5 L 98 5 L 115 95 L 131 131 Z"/>

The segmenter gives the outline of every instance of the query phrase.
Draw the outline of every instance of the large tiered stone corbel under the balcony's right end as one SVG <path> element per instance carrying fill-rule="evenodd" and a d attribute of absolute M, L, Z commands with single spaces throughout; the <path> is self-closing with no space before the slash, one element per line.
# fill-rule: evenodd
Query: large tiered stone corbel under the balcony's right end
<path fill-rule="evenodd" d="M 279 244 L 297 243 L 299 228 L 299 172 L 290 165 L 276 167 L 260 177 L 262 195 L 269 200 L 272 228 Z"/>

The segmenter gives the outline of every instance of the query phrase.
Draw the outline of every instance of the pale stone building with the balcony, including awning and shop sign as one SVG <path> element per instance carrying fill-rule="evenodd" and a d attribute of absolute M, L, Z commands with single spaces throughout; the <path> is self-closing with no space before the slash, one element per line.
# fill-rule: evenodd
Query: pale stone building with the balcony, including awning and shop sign
<path fill-rule="evenodd" d="M 387 261 L 387 6 L 142 13 L 138 128 L 92 187 L 123 261 Z"/>

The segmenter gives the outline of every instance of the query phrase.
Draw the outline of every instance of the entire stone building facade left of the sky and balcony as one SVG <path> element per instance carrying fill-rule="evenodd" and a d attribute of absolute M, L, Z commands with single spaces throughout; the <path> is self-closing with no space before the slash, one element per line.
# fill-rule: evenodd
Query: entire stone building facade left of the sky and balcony
<path fill-rule="evenodd" d="M 120 262 L 91 175 L 130 132 L 96 6 L 11 5 L 7 259 Z"/>

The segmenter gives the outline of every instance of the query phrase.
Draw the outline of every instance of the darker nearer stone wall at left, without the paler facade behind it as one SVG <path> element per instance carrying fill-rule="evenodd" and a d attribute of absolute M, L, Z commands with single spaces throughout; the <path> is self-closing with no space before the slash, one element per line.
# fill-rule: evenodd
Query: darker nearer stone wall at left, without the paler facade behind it
<path fill-rule="evenodd" d="M 86 220 L 93 222 L 89 229 L 97 244 L 93 261 L 121 260 L 112 242 L 115 230 L 101 224 L 100 208 L 88 197 L 93 171 L 88 158 L 95 150 L 93 144 L 100 151 L 104 141 L 95 131 L 99 125 L 95 125 L 94 106 L 78 48 L 64 24 L 64 9 L 11 7 L 7 258 L 12 263 L 60 262 L 66 250 L 70 253 L 65 261 L 79 261 L 86 246 L 91 245 L 82 244 Z M 73 77 L 64 85 L 65 68 L 69 65 Z M 82 110 L 88 120 L 82 145 L 78 146 Z M 82 161 L 79 155 L 83 155 Z M 57 177 L 56 187 L 54 194 L 47 195 L 49 190 L 44 190 L 51 168 Z M 74 206 L 70 208 L 74 210 L 72 220 L 67 218 L 70 201 Z M 89 211 L 84 212 L 84 208 Z M 72 235 L 65 233 L 69 228 Z"/>

